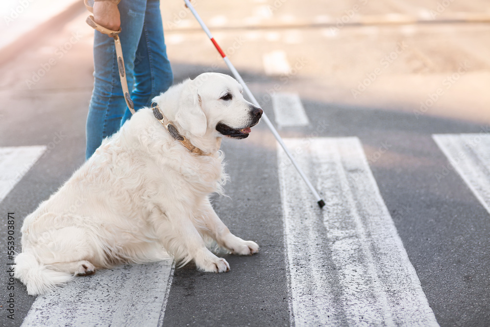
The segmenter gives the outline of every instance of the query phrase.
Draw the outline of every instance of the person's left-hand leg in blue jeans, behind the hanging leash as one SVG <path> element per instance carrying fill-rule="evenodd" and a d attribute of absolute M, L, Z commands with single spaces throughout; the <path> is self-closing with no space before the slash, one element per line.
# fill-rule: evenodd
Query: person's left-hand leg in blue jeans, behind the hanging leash
<path fill-rule="evenodd" d="M 129 90 L 134 85 L 134 61 L 145 20 L 146 0 L 122 0 L 119 34 L 123 48 L 124 68 Z M 94 91 L 87 116 L 86 159 L 95 152 L 102 140 L 115 133 L 121 124 L 126 102 L 119 78 L 114 39 L 95 31 Z"/>

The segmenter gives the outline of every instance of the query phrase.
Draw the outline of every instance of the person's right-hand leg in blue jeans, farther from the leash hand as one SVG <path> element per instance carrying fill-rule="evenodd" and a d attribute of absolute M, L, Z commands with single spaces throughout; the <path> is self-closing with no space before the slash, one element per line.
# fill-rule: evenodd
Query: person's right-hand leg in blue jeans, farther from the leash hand
<path fill-rule="evenodd" d="M 172 86 L 173 75 L 167 57 L 159 0 L 147 0 L 145 23 L 134 62 L 135 84 L 131 99 L 136 110 L 147 107 L 151 100 Z M 131 117 L 126 108 L 121 126 Z"/>

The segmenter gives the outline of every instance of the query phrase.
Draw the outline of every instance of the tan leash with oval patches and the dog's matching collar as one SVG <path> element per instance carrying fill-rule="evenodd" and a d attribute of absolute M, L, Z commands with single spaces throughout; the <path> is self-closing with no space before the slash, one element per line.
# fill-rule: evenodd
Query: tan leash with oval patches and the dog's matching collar
<path fill-rule="evenodd" d="M 85 7 L 87 8 L 88 11 L 93 13 L 93 7 L 91 7 L 88 4 L 88 0 L 83 0 Z M 131 100 L 131 97 L 129 95 L 129 89 L 127 87 L 127 81 L 126 81 L 126 72 L 124 69 L 124 58 L 123 58 L 123 48 L 121 47 L 121 40 L 119 39 L 119 33 L 121 33 L 121 27 L 119 27 L 119 30 L 113 31 L 111 29 L 105 28 L 104 26 L 98 25 L 94 21 L 94 16 L 90 15 L 87 17 L 85 22 L 90 25 L 92 28 L 98 30 L 102 34 L 106 34 L 108 36 L 111 36 L 114 38 L 114 46 L 116 47 L 116 55 L 118 57 L 118 70 L 119 70 L 119 78 L 121 79 L 121 87 L 123 88 L 123 93 L 124 93 L 124 100 L 126 101 L 127 107 L 131 111 L 131 114 L 134 115 L 135 110 L 134 110 L 134 103 Z M 204 153 L 201 149 L 195 147 L 192 145 L 191 141 L 187 139 L 186 137 L 182 136 L 175 125 L 173 125 L 172 122 L 170 122 L 162 113 L 162 110 L 158 106 L 156 102 L 153 102 L 151 104 L 151 109 L 153 110 L 153 115 L 155 118 L 162 124 L 162 126 L 165 127 L 165 129 L 169 132 L 170 135 L 176 140 L 179 141 L 184 147 L 187 148 L 191 153 L 197 154 L 197 155 L 211 155 L 212 153 L 206 154 Z"/>

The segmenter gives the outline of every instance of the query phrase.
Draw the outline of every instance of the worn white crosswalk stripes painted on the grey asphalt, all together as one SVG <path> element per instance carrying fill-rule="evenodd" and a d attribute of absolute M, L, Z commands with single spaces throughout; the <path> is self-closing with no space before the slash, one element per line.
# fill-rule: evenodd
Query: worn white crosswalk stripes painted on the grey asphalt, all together
<path fill-rule="evenodd" d="M 310 124 L 299 96 L 279 93 L 272 103 L 278 126 Z M 454 169 L 490 213 L 490 135 L 436 134 L 433 139 L 450 162 L 446 170 Z M 284 141 L 326 202 L 318 208 L 277 147 L 290 323 L 439 326 L 361 141 Z M 0 148 L 0 201 L 45 151 L 45 146 Z M 444 171 L 436 177 L 444 178 Z M 77 278 L 38 297 L 22 326 L 162 326 L 173 270 L 172 260 L 167 260 Z"/>

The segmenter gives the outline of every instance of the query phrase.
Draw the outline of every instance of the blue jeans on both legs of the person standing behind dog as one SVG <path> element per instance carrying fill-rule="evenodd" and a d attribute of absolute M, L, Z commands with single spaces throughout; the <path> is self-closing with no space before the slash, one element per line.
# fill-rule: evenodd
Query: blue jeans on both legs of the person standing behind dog
<path fill-rule="evenodd" d="M 172 85 L 173 75 L 163 36 L 159 0 L 122 0 L 119 34 L 131 99 L 136 110 Z M 114 39 L 98 31 L 94 36 L 94 91 L 87 116 L 86 159 L 102 140 L 130 118 L 124 101 Z"/>

